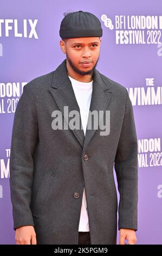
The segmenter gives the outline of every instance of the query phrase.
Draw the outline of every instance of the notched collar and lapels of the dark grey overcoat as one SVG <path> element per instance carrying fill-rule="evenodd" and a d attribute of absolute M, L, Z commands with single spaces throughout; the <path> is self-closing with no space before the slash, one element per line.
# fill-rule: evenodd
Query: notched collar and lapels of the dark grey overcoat
<path fill-rule="evenodd" d="M 54 77 L 49 91 L 53 95 L 54 100 L 57 106 L 60 108 L 62 114 L 64 113 L 64 106 L 68 106 L 69 112 L 76 110 L 80 113 L 72 83 L 67 74 L 66 59 L 64 59 L 60 66 L 58 66 L 58 68 L 54 71 Z M 98 113 L 101 110 L 105 111 L 109 101 L 111 100 L 111 96 L 112 90 L 110 90 L 109 84 L 103 81 L 100 72 L 95 69 L 93 75 L 93 92 L 89 111 L 92 112 L 96 110 L 98 111 Z M 69 120 L 65 117 L 65 115 L 63 116 L 69 124 Z M 77 141 L 79 141 L 80 145 L 83 147 L 84 150 L 90 142 L 90 139 L 92 139 L 95 133 L 95 129 L 94 127 L 92 127 L 92 130 L 87 130 L 86 136 L 84 135 L 82 129 L 72 130 L 72 132 L 74 133 L 74 136 L 76 137 Z"/>

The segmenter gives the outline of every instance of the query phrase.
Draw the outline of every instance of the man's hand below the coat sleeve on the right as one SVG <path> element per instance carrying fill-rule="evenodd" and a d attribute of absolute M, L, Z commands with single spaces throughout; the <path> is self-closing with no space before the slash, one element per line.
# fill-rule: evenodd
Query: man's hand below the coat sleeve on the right
<path fill-rule="evenodd" d="M 135 243 L 137 242 L 137 238 L 135 235 L 135 231 L 133 229 L 120 229 L 119 231 L 119 239 L 120 245 L 126 245 L 127 243 L 125 243 L 125 239 L 128 240 L 128 245 L 135 245 Z"/>

